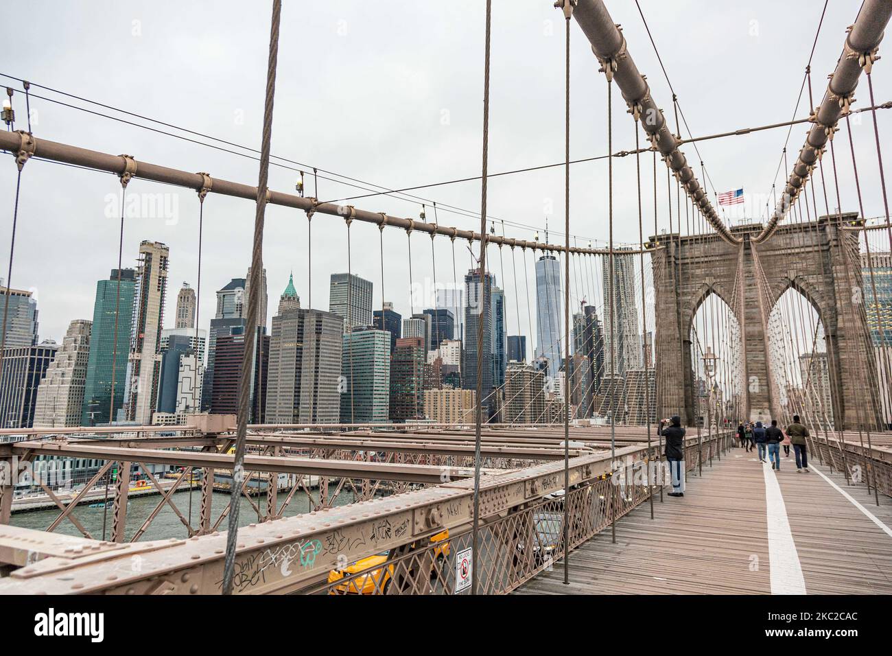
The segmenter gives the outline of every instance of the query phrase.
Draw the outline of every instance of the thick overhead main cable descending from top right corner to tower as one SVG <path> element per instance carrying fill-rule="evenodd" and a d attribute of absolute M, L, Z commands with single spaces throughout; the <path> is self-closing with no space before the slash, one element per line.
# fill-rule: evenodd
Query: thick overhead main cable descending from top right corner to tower
<path fill-rule="evenodd" d="M 805 145 L 799 151 L 793 170 L 790 171 L 787 186 L 777 204 L 771 219 L 765 224 L 753 241 L 756 244 L 774 234 L 778 223 L 796 202 L 799 192 L 805 188 L 805 180 L 824 152 L 828 140 L 833 138 L 840 117 L 849 111 L 855 101 L 855 87 L 863 69 L 870 71 L 877 59 L 877 50 L 883 38 L 890 16 L 892 2 L 889 0 L 864 0 L 855 24 L 848 28 L 848 36 L 839 57 L 837 67 L 830 75 L 830 83 L 824 92 L 821 104 L 814 108 L 809 119 L 814 123 L 805 137 Z"/>

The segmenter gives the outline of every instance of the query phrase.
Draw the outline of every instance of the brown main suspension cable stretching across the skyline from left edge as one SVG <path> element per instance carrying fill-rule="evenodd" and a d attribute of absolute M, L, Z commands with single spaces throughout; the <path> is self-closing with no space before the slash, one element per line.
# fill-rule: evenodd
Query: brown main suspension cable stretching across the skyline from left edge
<path fill-rule="evenodd" d="M 207 180 L 209 176 L 206 174 L 189 173 L 185 170 L 170 169 L 166 166 L 136 161 L 129 156 L 125 157 L 123 155 L 100 153 L 95 150 L 88 150 L 87 148 L 78 148 L 78 146 L 74 145 L 60 144 L 47 139 L 38 139 L 37 137 L 29 136 L 28 133 L 23 132 L 22 130 L 0 133 L 0 149 L 10 151 L 13 155 L 20 153 L 23 150 L 23 144 L 26 142 L 28 143 L 28 149 L 34 157 L 53 160 L 54 162 L 64 162 L 75 166 L 85 166 L 89 169 L 104 170 L 118 176 L 128 172 L 128 166 L 136 166 L 135 171 L 130 171 L 133 178 L 163 182 L 169 185 L 174 185 L 175 187 L 186 187 L 194 189 L 196 192 L 208 188 Z M 224 179 L 214 178 L 213 186 L 209 191 L 211 194 L 231 195 L 252 201 L 257 200 L 257 187 L 243 185 L 238 182 L 230 182 Z M 355 219 L 367 223 L 374 223 L 378 226 L 386 225 L 393 226 L 394 228 L 417 230 L 432 236 L 442 235 L 443 237 L 467 239 L 468 241 L 480 241 L 482 239 L 480 233 L 474 232 L 473 230 L 459 230 L 458 228 L 440 226 L 436 223 L 427 223 L 422 220 L 403 219 L 401 217 L 390 216 L 384 212 L 368 212 L 368 210 L 359 210 L 352 205 L 318 203 L 318 199 L 316 198 L 285 194 L 270 189 L 267 190 L 267 203 L 293 207 L 302 212 L 315 212 L 319 214 L 339 216 L 343 219 Z M 533 250 L 539 249 L 541 251 L 562 253 L 567 250 L 562 245 L 541 244 L 536 241 L 530 242 L 525 241 L 524 239 L 511 239 L 508 237 L 499 237 L 497 235 L 488 235 L 486 241 L 492 244 L 511 246 L 512 248 L 519 246 L 520 248 L 532 248 Z M 571 247 L 569 252 L 599 255 L 610 253 L 607 248 L 575 247 Z M 623 253 L 640 253 L 640 250 L 624 250 Z"/>

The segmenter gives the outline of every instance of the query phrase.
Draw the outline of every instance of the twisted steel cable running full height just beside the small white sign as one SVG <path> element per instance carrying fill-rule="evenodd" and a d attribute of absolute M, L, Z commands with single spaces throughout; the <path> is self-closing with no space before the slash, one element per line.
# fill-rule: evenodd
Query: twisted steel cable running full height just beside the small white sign
<path fill-rule="evenodd" d="M 477 298 L 477 398 L 474 430 L 474 524 L 471 536 L 471 594 L 477 594 L 477 568 L 479 565 L 480 529 L 480 430 L 483 423 L 483 321 L 486 317 L 486 182 L 490 138 L 490 34 L 492 20 L 492 0 L 486 0 L 486 36 L 483 46 L 483 166 L 480 178 L 480 294 Z"/>

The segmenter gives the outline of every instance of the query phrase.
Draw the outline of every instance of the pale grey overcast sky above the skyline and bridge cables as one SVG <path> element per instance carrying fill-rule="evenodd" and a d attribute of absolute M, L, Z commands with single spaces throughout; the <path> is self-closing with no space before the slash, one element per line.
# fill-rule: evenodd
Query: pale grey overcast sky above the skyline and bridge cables
<path fill-rule="evenodd" d="M 745 3 L 713 0 L 641 0 L 669 78 L 690 130 L 706 135 L 789 120 L 793 115 L 805 63 L 821 15 L 822 0 Z M 826 87 L 840 53 L 847 25 L 860 3 L 833 0 L 824 19 L 812 62 L 815 103 Z M 564 36 L 562 14 L 550 0 L 494 0 L 490 171 L 561 162 L 564 154 Z M 16 26 L 7 40 L 0 72 L 29 79 L 90 100 L 226 139 L 260 147 L 263 90 L 267 70 L 271 2 L 50 2 L 8 4 L 4 18 Z M 671 117 L 672 95 L 633 2 L 610 0 L 632 54 L 657 104 Z M 333 3 L 285 0 L 278 60 L 273 154 L 306 167 L 335 171 L 390 188 L 412 187 L 480 173 L 483 98 L 483 0 L 409 2 L 352 0 Z M 607 150 L 606 82 L 591 48 L 574 24 L 572 45 L 571 157 Z M 888 64 L 875 67 L 877 102 L 892 97 Z M 4 84 L 21 89 L 12 79 Z M 45 89 L 32 89 L 70 104 L 113 113 Z M 618 89 L 617 89 L 618 91 Z M 857 106 L 867 104 L 866 84 Z M 632 119 L 614 94 L 615 150 L 634 146 Z M 17 127 L 25 120 L 24 99 L 14 98 Z M 208 171 L 221 179 L 257 184 L 257 162 L 205 145 L 167 137 L 100 116 L 32 98 L 37 137 L 182 170 Z M 808 112 L 807 95 L 797 117 Z M 892 135 L 892 118 L 880 112 L 880 136 Z M 120 114 L 115 114 L 121 116 Z M 145 121 L 139 121 L 145 122 Z M 671 122 L 674 125 L 674 122 Z M 155 126 L 158 128 L 159 126 Z M 166 128 L 161 128 L 166 129 Z M 686 131 L 682 127 L 682 131 Z M 182 133 L 180 133 L 182 134 Z M 787 129 L 703 142 L 700 154 L 718 192 L 743 187 L 761 210 L 775 179 Z M 792 162 L 805 127 L 790 137 Z M 865 213 L 882 213 L 870 118 L 855 126 Z M 841 142 L 847 146 L 847 141 Z M 227 146 L 228 147 L 228 146 Z M 691 161 L 690 145 L 682 150 Z M 244 152 L 244 151 L 241 151 Z M 838 156 L 847 158 L 847 148 Z M 0 253 L 5 276 L 12 229 L 15 167 L 0 167 Z M 645 215 L 652 232 L 650 159 L 646 164 Z M 661 204 L 665 169 L 658 162 Z M 301 168 L 301 167 L 297 167 Z M 843 204 L 857 208 L 854 180 L 841 173 Z M 615 239 L 638 241 L 634 159 L 615 162 Z M 489 213 L 495 220 L 524 224 L 508 227 L 509 237 L 532 239 L 546 214 L 554 228 L 564 220 L 564 172 L 558 167 L 491 179 Z M 269 186 L 293 191 L 297 173 L 273 166 Z M 326 175 L 326 177 L 331 177 Z M 782 173 L 781 173 L 782 177 Z M 780 179 L 778 180 L 780 183 Z M 649 185 L 649 187 L 648 187 Z M 707 184 L 712 193 L 712 187 Z M 118 179 L 95 171 L 48 162 L 29 162 L 21 187 L 12 286 L 33 289 L 40 311 L 40 336 L 61 341 L 70 320 L 91 319 L 95 283 L 117 265 Z M 310 176 L 308 195 L 313 193 Z M 358 195 L 363 189 L 319 181 L 323 200 Z M 440 208 L 442 225 L 479 229 L 480 183 L 468 182 L 412 192 Z M 129 216 L 124 234 L 125 265 L 135 264 L 142 239 L 170 247 L 166 326 L 172 326 L 178 288 L 196 283 L 198 202 L 191 191 L 135 180 L 128 195 L 148 206 L 163 194 L 161 208 Z M 420 201 L 376 196 L 351 201 L 374 212 L 417 218 Z M 466 211 L 448 212 L 444 205 Z M 831 202 L 831 209 L 835 203 Z M 607 239 L 607 164 L 572 168 L 571 233 L 579 245 Z M 144 208 L 145 209 L 145 208 Z M 151 209 L 151 208 L 150 208 Z M 146 215 L 147 214 L 147 215 Z M 471 216 L 467 216 L 470 214 Z M 739 208 L 729 214 L 744 216 Z M 230 278 L 243 277 L 251 258 L 254 206 L 249 201 L 209 196 L 205 203 L 202 247 L 201 324 L 214 311 L 214 292 Z M 757 218 L 757 217 L 756 217 Z M 660 228 L 667 226 L 663 207 Z M 376 227 L 355 223 L 352 270 L 375 285 L 380 303 L 381 262 Z M 499 226 L 500 231 L 500 226 Z M 328 304 L 328 277 L 347 270 L 343 220 L 318 215 L 313 220 L 312 305 Z M 541 238 L 544 234 L 541 233 Z M 562 237 L 551 236 L 555 241 Z M 432 276 L 428 237 L 412 237 L 413 278 Z M 385 230 L 384 286 L 387 300 L 409 313 L 407 239 Z M 269 311 L 274 312 L 288 274 L 301 303 L 308 301 L 307 220 L 303 213 L 268 206 L 264 264 L 268 270 Z M 458 276 L 469 253 L 456 248 Z M 496 251 L 491 257 L 497 255 Z M 508 253 L 506 253 L 506 256 Z M 518 253 L 519 258 L 519 253 Z M 519 262 L 519 260 L 518 260 Z M 527 262 L 529 262 L 529 255 Z M 436 240 L 437 274 L 451 280 L 448 239 Z M 520 270 L 518 265 L 518 270 Z M 497 277 L 500 271 L 496 270 Z M 520 272 L 518 272 L 518 275 Z M 509 306 L 513 283 L 508 287 Z M 526 324 L 524 286 L 521 324 Z M 416 308 L 420 311 L 420 308 Z M 508 332 L 516 332 L 508 308 Z M 524 334 L 528 331 L 523 330 Z"/>

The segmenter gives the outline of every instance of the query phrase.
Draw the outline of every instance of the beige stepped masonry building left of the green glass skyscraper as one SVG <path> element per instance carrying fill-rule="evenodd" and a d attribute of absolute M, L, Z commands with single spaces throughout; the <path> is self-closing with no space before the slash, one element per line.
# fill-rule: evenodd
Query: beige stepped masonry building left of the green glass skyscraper
<path fill-rule="evenodd" d="M 76 319 L 69 324 L 62 346 L 56 350 L 54 361 L 46 368 L 44 379 L 37 387 L 35 427 L 80 425 L 84 385 L 87 382 L 91 325 L 92 322 L 86 319 Z"/>

